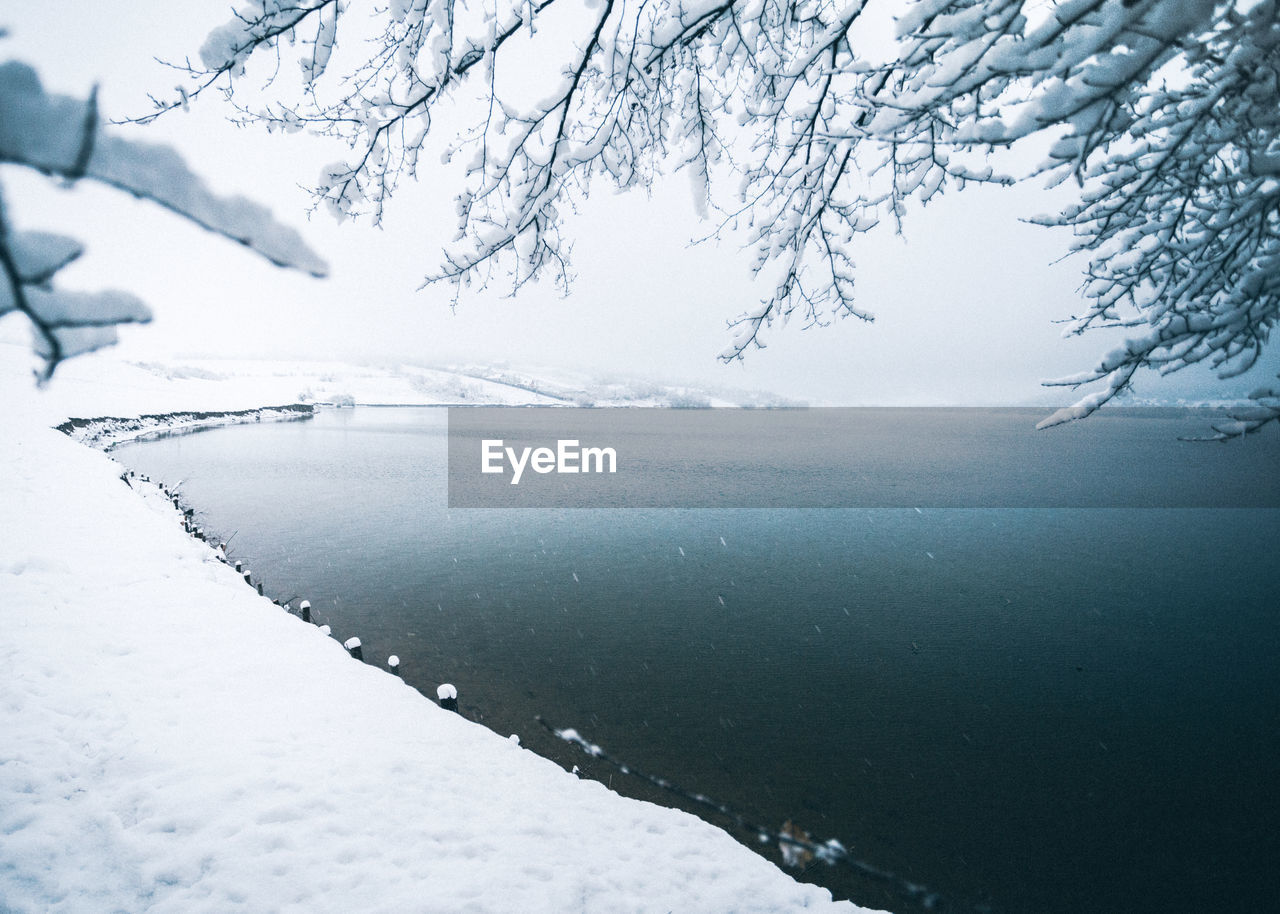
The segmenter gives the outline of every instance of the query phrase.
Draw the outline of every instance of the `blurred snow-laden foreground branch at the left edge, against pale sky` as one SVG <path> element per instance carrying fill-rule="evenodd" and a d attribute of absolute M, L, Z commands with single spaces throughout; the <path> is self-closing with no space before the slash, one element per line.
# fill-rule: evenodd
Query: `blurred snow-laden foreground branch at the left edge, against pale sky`
<path fill-rule="evenodd" d="M 96 180 L 157 204 L 279 266 L 316 277 L 326 271 L 293 229 L 248 200 L 211 193 L 173 150 L 102 132 L 96 95 L 79 101 L 46 93 L 31 67 L 13 61 L 0 64 L 0 165 L 65 182 Z M 31 321 L 36 352 L 45 360 L 44 379 L 63 358 L 114 343 L 118 325 L 151 319 L 146 305 L 127 292 L 56 288 L 55 274 L 81 253 L 73 238 L 17 230 L 0 200 L 0 315 L 19 311 Z"/>

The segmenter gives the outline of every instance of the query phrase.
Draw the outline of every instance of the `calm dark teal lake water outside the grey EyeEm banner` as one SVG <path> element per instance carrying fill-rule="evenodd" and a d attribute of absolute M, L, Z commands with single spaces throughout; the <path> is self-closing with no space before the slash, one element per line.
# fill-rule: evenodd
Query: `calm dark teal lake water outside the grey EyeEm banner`
<path fill-rule="evenodd" d="M 1034 419 L 1027 434 L 1055 434 Z M 1147 437 L 1152 460 L 1152 442 L 1220 451 L 1175 440 L 1204 428 L 1070 434 L 1100 453 Z M 1229 447 L 1280 456 L 1280 437 Z M 443 410 L 114 456 L 180 483 L 269 595 L 621 792 L 676 804 L 534 717 L 838 838 L 951 910 L 1262 911 L 1280 894 L 1277 509 L 449 511 Z M 803 878 L 915 910 L 850 870 Z"/>

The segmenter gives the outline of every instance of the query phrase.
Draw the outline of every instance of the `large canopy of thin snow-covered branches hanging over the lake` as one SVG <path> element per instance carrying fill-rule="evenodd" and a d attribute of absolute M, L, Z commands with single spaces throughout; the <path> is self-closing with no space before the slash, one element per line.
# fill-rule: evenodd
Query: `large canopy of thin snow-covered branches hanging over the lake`
<path fill-rule="evenodd" d="M 593 179 L 644 187 L 684 169 L 717 232 L 746 230 L 768 288 L 733 321 L 728 361 L 774 321 L 872 320 L 855 298 L 856 237 L 901 229 L 911 204 L 1074 178 L 1078 202 L 1038 220 L 1070 227 L 1089 259 L 1073 332 L 1142 333 L 1068 379 L 1102 384 L 1073 415 L 1142 369 L 1253 365 L 1280 275 L 1276 0 L 919 0 L 901 4 L 891 47 L 864 26 L 869 8 L 255 0 L 160 109 L 216 84 L 242 119 L 343 140 L 352 155 L 321 175 L 317 201 L 375 221 L 443 131 L 445 159 L 467 157 L 457 236 L 428 282 L 454 294 L 495 277 L 513 291 L 547 273 L 566 283 L 562 214 Z M 346 52 L 339 20 L 356 36 Z M 246 65 L 275 65 L 285 46 L 297 86 L 244 104 Z M 993 168 L 1036 136 L 1051 143 L 1041 168 Z"/>

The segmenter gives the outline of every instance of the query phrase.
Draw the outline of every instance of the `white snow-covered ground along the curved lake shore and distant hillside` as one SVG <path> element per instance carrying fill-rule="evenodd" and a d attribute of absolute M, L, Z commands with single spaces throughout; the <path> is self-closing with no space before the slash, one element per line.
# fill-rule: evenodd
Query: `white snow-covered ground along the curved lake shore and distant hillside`
<path fill-rule="evenodd" d="M 306 388 L 396 402 L 410 375 L 170 378 L 87 358 L 36 392 L 14 361 L 0 371 L 0 910 L 859 910 L 351 659 L 50 428 Z M 419 383 L 545 396 L 458 378 Z"/>

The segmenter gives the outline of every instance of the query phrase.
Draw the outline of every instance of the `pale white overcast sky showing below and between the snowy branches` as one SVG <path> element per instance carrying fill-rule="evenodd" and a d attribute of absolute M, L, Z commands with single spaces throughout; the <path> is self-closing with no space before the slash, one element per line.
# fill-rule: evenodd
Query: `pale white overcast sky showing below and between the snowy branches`
<path fill-rule="evenodd" d="M 352 13 L 360 4 L 352 4 Z M 0 17 L 0 60 L 36 65 L 46 88 L 83 97 L 100 84 L 109 118 L 146 113 L 148 92 L 179 76 L 155 58 L 196 56 L 230 8 L 200 0 L 15 4 Z M 243 193 L 302 232 L 332 268 L 328 279 L 279 270 L 238 246 L 99 187 L 65 188 L 23 169 L 0 170 L 19 228 L 72 232 L 86 256 L 60 279 L 123 288 L 154 310 L 125 328 L 131 358 L 337 358 L 419 365 L 502 365 L 644 378 L 707 388 L 768 390 L 831 405 L 1062 403 L 1047 378 L 1092 367 L 1116 344 L 1102 334 L 1062 338 L 1082 309 L 1080 262 L 1055 262 L 1062 230 L 1020 221 L 1065 198 L 1036 186 L 948 193 L 909 212 L 905 237 L 881 227 L 858 239 L 859 305 L 874 324 L 774 325 L 768 348 L 724 365 L 727 320 L 768 292 L 749 269 L 744 238 L 691 245 L 708 230 L 689 180 L 650 193 L 600 186 L 567 220 L 576 280 L 465 297 L 420 289 L 454 223 L 449 175 L 424 168 L 390 201 L 381 228 L 310 214 L 305 186 L 347 152 L 305 134 L 268 134 L 227 120 L 218 95 L 148 127 L 119 127 L 177 147 L 216 191 Z M 1228 385 L 1207 371 L 1139 378 L 1139 397 L 1239 396 L 1275 375 L 1276 358 Z"/>

